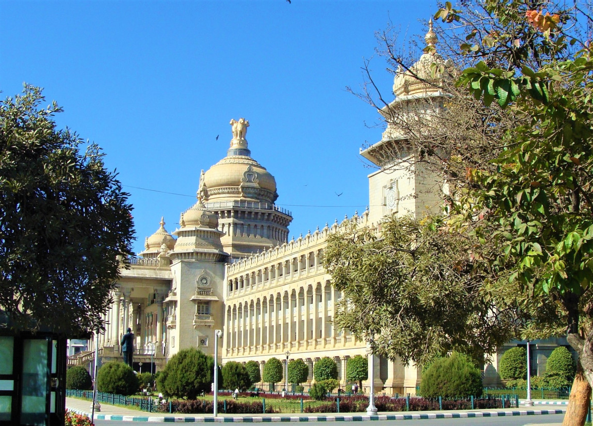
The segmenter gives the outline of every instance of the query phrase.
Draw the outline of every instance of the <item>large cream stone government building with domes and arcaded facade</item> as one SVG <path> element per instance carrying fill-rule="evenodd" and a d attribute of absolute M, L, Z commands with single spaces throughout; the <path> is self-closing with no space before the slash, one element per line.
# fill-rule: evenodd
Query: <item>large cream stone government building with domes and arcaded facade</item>
<path fill-rule="evenodd" d="M 436 43 L 432 28 L 426 43 Z M 396 98 L 382 113 L 389 108 L 428 113 L 442 107 L 444 95 L 430 84 L 438 80 L 431 72 L 435 61 L 442 62 L 438 54 L 425 53 L 410 71 L 398 72 Z M 214 331 L 221 329 L 222 364 L 256 360 L 263 368 L 271 357 L 283 362 L 301 358 L 310 366 L 311 381 L 315 361 L 328 356 L 336 360 L 343 388 L 347 359 L 366 355 L 366 344 L 332 321 L 342 295 L 331 287 L 322 260 L 327 236 L 339 232 L 342 224 L 326 224 L 289 241 L 291 212 L 274 204 L 276 181 L 251 157 L 248 121 L 230 124 L 227 155 L 202 171 L 197 201 L 181 213 L 180 228 L 169 233 L 161 219 L 139 257 L 129 260 L 129 268 L 122 264 L 114 303 L 104 318 L 106 332 L 98 339 L 103 362 L 119 359 L 119 341 L 128 327 L 136 337 L 135 369 L 144 371 L 162 369 L 184 348 L 213 354 Z M 361 150 L 376 165 L 368 176 L 370 208 L 345 221 L 380 226 L 387 214 L 420 216 L 427 209 L 441 210 L 445 182 L 410 162 L 414 154 L 405 146 L 406 134 L 390 123 L 380 142 Z M 543 358 L 535 361 L 536 369 L 553 346 L 542 342 Z M 540 355 L 536 348 L 535 357 Z M 90 357 L 82 354 L 79 361 Z M 420 380 L 416 367 L 374 358 L 375 390 L 415 393 Z M 492 366 L 485 374 L 486 384 L 498 380 Z"/>

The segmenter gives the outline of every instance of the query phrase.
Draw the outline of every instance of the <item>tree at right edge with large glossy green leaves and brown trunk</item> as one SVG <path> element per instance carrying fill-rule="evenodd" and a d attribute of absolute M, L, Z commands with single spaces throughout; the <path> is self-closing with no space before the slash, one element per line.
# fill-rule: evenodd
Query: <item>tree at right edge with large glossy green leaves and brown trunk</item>
<path fill-rule="evenodd" d="M 512 270 L 495 290 L 511 300 L 512 294 L 521 295 L 515 296 L 517 304 L 533 315 L 522 334 L 533 338 L 568 330 L 579 365 L 565 423 L 583 424 L 593 384 L 593 352 L 588 349 L 593 341 L 588 308 L 593 60 L 579 31 L 591 22 L 591 9 L 560 1 L 547 2 L 546 13 L 530 2 L 488 0 L 484 7 L 503 31 L 483 22 L 470 30 L 475 20 L 451 4 L 437 14 L 462 23 L 456 27 L 466 25 L 482 41 L 460 46 L 473 52 L 476 61 L 461 72 L 458 85 L 484 105 L 496 104 L 522 119 L 505 133 L 506 149 L 493 155 L 490 167 L 468 169 L 473 184 L 460 204 L 471 200 L 472 209 L 487 212 L 479 238 L 500 246 L 491 257 L 493 265 Z M 472 214 L 463 210 L 467 218 Z M 544 300 L 556 309 L 557 321 L 524 309 Z"/>

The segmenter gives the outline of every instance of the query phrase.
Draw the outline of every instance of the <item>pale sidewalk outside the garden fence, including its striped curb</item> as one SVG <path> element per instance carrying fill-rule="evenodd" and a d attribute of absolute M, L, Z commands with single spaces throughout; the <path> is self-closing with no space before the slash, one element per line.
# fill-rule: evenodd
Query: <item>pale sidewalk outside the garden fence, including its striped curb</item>
<path fill-rule="evenodd" d="M 91 415 L 91 402 L 76 398 L 66 398 L 66 408 L 79 414 Z M 542 414 L 564 414 L 566 408 L 540 409 L 519 407 L 500 408 L 490 410 L 468 410 L 468 411 L 417 411 L 417 412 L 380 412 L 378 416 L 369 417 L 364 413 L 345 414 L 285 414 L 285 415 L 240 415 L 240 414 L 219 414 L 213 417 L 212 414 L 164 414 L 138 411 L 120 406 L 101 403 L 101 411 L 95 411 L 97 420 L 118 420 L 118 421 L 149 421 L 149 422 L 291 422 L 291 421 L 368 421 L 372 420 L 411 420 L 411 419 L 440 419 L 440 418 L 473 418 L 473 417 L 502 417 L 502 416 L 526 416 Z M 551 426 L 551 425 L 547 425 Z"/>

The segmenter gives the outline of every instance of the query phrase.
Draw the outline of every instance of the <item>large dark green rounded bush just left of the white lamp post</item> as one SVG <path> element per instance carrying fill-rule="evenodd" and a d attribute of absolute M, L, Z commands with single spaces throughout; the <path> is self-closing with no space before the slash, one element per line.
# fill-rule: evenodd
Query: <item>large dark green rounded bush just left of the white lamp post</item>
<path fill-rule="evenodd" d="M 201 392 L 211 389 L 213 362 L 196 348 L 181 350 L 158 376 L 158 389 L 165 396 L 196 399 Z"/>

